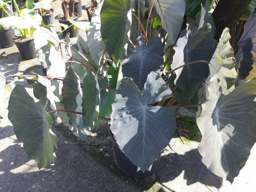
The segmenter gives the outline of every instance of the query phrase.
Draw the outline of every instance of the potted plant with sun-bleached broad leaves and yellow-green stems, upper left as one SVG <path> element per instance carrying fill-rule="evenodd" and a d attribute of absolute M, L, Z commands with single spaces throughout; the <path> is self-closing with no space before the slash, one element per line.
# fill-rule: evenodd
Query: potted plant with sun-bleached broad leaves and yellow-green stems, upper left
<path fill-rule="evenodd" d="M 35 11 L 27 8 L 20 10 L 15 0 L 13 0 L 13 3 L 17 16 L 1 18 L 0 26 L 18 29 L 20 34 L 14 36 L 13 40 L 19 49 L 22 58 L 24 60 L 36 58 L 33 26 L 41 24 L 41 16 Z"/>

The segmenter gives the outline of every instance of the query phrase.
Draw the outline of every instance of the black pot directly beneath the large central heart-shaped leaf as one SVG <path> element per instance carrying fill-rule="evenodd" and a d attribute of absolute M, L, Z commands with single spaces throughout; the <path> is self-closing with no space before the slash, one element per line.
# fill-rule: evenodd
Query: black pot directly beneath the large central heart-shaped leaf
<path fill-rule="evenodd" d="M 136 178 L 145 178 L 151 174 L 153 174 L 157 168 L 158 165 L 160 163 L 160 156 L 158 158 L 158 160 L 154 161 L 152 168 L 150 171 L 144 171 L 142 172 L 141 170 L 137 172 L 138 167 L 135 166 L 128 157 L 126 157 L 124 155 L 124 153 L 121 151 L 121 149 L 119 148 L 119 145 L 116 143 L 110 128 L 108 127 L 108 132 L 110 135 L 110 140 L 113 146 L 113 155 L 114 155 L 114 160 L 115 163 L 117 165 L 117 167 L 119 168 L 119 170 L 121 172 L 123 172 L 125 175 L 129 176 L 129 177 L 136 177 Z"/>

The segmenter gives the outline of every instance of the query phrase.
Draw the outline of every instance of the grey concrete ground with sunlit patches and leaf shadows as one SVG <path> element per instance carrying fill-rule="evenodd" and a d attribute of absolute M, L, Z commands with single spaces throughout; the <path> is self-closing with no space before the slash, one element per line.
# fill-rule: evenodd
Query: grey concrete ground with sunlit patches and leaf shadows
<path fill-rule="evenodd" d="M 85 5 L 82 0 L 82 5 Z M 52 8 L 57 16 L 61 12 L 61 0 L 53 2 Z M 83 7 L 83 17 L 87 16 Z M 58 22 L 56 20 L 56 22 Z M 61 31 L 56 28 L 56 31 Z M 80 31 L 85 36 L 83 31 Z M 72 38 L 76 42 L 77 37 Z M 16 46 L 0 49 L 0 72 L 5 76 L 21 74 L 31 66 L 38 65 L 37 72 L 42 73 L 39 61 L 23 60 Z M 31 88 L 21 80 L 26 89 Z M 4 118 L 0 120 L 0 192 L 142 192 L 134 183 L 135 179 L 124 179 L 122 175 L 99 163 L 97 158 L 84 150 L 71 139 L 64 137 L 58 127 L 53 132 L 58 136 L 57 161 L 51 168 L 37 168 L 37 162 L 31 160 L 13 131 L 8 120 L 8 100 L 12 88 L 17 84 L 9 79 L 6 84 Z M 182 144 L 179 137 L 174 137 L 171 148 L 162 154 L 155 177 L 157 184 L 148 188 L 151 192 L 254 192 L 256 191 L 256 146 L 240 175 L 233 184 L 215 176 L 201 162 L 196 142 Z"/>

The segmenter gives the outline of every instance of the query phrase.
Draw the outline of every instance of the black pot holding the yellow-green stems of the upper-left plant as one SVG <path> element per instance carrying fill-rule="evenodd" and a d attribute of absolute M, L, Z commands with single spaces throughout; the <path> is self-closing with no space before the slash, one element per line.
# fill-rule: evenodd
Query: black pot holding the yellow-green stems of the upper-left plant
<path fill-rule="evenodd" d="M 14 36 L 13 38 L 15 37 L 16 36 Z M 14 43 L 19 49 L 21 56 L 24 60 L 30 60 L 37 57 L 34 38 L 28 39 L 26 41 L 14 41 Z"/>

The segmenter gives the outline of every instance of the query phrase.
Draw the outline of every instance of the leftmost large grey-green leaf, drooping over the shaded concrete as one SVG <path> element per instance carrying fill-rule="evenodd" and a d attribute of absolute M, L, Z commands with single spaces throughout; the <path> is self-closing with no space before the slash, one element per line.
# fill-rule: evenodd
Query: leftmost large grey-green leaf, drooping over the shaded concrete
<path fill-rule="evenodd" d="M 17 84 L 12 90 L 8 106 L 8 118 L 15 134 L 24 143 L 24 149 L 31 158 L 36 159 L 38 168 L 55 162 L 57 137 L 50 130 L 52 117 L 46 112 L 47 98 L 38 103 Z"/>

